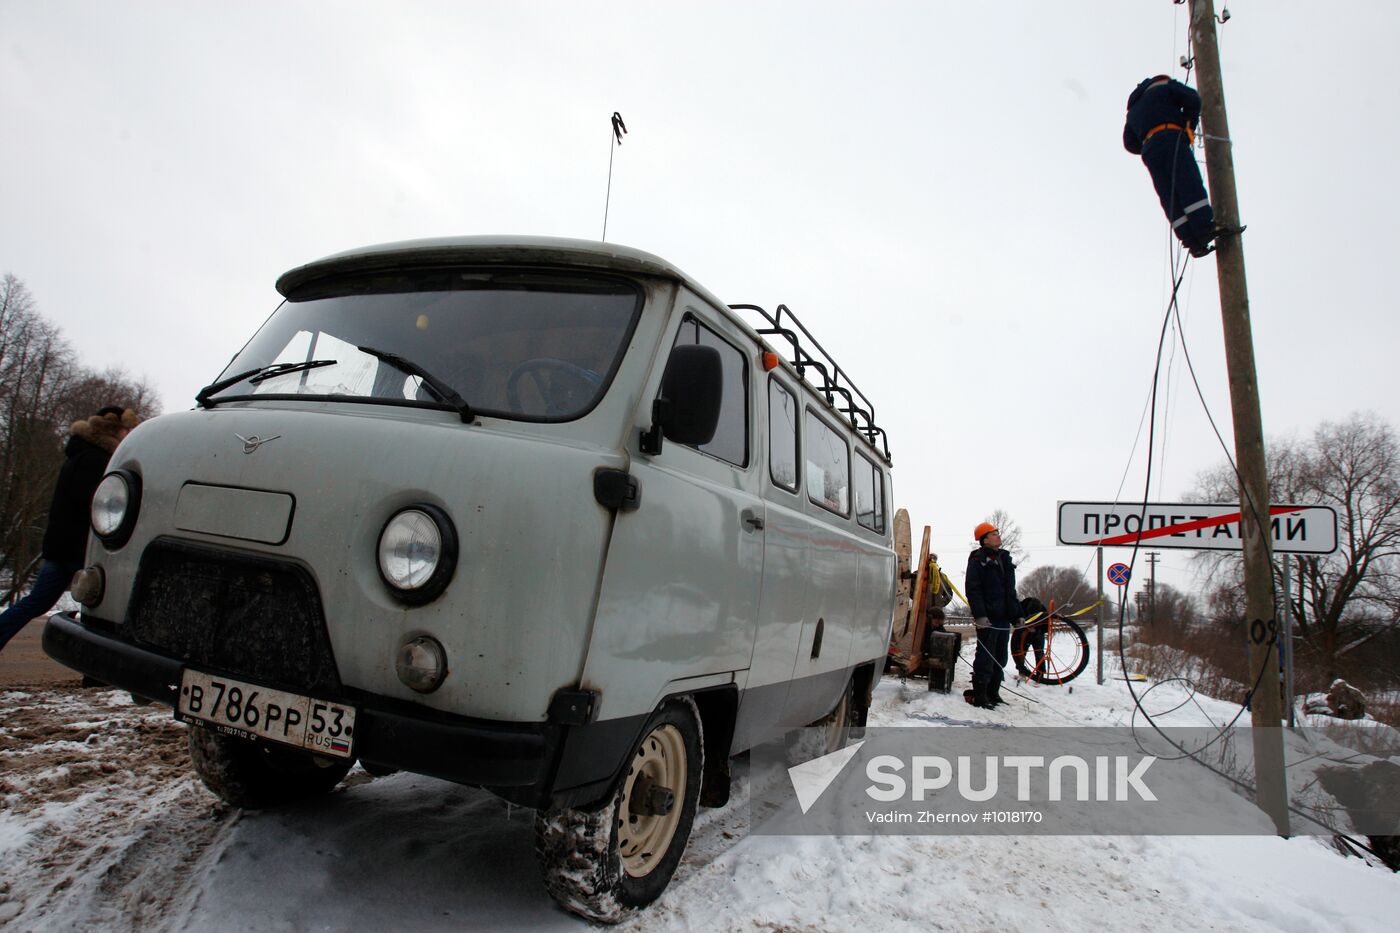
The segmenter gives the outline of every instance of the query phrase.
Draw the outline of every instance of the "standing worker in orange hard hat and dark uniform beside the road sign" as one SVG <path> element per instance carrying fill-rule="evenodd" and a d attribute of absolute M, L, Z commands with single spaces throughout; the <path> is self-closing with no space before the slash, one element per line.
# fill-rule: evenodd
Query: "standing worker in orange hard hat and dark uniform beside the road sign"
<path fill-rule="evenodd" d="M 1021 618 L 1016 600 L 1016 565 L 1001 549 L 1001 534 L 991 523 L 973 530 L 977 549 L 967 556 L 967 605 L 977 626 L 977 656 L 972 663 L 972 705 L 1000 705 L 1011 626 Z"/>

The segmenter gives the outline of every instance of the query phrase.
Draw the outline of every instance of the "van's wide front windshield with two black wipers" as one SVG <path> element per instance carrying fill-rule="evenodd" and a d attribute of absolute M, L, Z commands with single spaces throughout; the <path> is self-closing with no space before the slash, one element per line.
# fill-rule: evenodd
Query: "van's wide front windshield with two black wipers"
<path fill-rule="evenodd" d="M 210 396 L 444 408 L 435 381 L 482 415 L 564 422 L 602 398 L 640 311 L 634 282 L 581 273 L 340 279 L 284 301 L 220 378 L 255 374 Z"/>

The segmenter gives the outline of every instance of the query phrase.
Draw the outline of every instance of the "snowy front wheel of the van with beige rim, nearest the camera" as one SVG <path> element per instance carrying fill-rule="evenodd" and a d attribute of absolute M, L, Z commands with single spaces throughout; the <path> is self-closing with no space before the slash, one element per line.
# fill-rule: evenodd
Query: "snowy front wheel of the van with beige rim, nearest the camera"
<path fill-rule="evenodd" d="M 666 890 L 690 838 L 704 766 L 700 713 L 689 696 L 647 721 L 617 789 L 602 808 L 542 810 L 535 855 L 560 906 L 617 923 Z"/>

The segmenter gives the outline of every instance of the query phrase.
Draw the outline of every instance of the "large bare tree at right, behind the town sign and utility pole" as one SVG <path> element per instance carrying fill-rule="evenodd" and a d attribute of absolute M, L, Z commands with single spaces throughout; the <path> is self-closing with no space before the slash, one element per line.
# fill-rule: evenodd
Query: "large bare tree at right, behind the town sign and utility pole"
<path fill-rule="evenodd" d="M 1274 502 L 1337 510 L 1337 553 L 1298 556 L 1291 581 L 1298 633 L 1330 677 L 1338 658 L 1400 626 L 1400 441 L 1379 416 L 1354 413 L 1305 443 L 1271 441 L 1268 452 Z M 1231 502 L 1233 472 L 1203 474 L 1196 495 Z M 1238 555 L 1198 560 L 1226 586 L 1239 574 Z M 1274 573 L 1281 593 L 1278 562 Z"/>

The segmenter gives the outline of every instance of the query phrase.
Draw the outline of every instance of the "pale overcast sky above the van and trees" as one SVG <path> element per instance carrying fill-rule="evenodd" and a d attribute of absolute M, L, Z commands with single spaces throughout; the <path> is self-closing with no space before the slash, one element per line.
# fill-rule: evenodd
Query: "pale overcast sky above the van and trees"
<path fill-rule="evenodd" d="M 1400 6 L 1228 6 L 1266 431 L 1400 424 Z M 896 504 L 951 565 L 1001 507 L 1026 570 L 1085 566 L 1051 546 L 1056 502 L 1112 500 L 1126 469 L 1141 496 L 1169 294 L 1124 101 L 1184 76 L 1186 32 L 1170 0 L 0 0 L 0 273 L 88 364 L 179 410 L 288 268 L 416 237 L 596 238 L 620 111 L 610 241 L 794 308 L 875 402 Z M 1214 259 L 1183 317 L 1228 430 Z M 1221 461 L 1173 350 L 1161 500 Z M 1187 553 L 1159 573 L 1189 583 Z"/>

